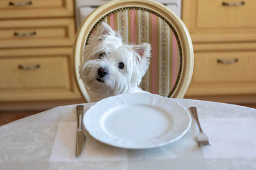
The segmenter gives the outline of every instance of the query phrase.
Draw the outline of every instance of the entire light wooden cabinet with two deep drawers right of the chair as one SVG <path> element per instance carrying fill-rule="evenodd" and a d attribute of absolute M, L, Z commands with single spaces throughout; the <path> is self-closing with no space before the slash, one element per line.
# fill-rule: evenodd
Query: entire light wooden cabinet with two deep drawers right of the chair
<path fill-rule="evenodd" d="M 182 1 L 195 67 L 186 97 L 256 102 L 256 1 Z"/>

